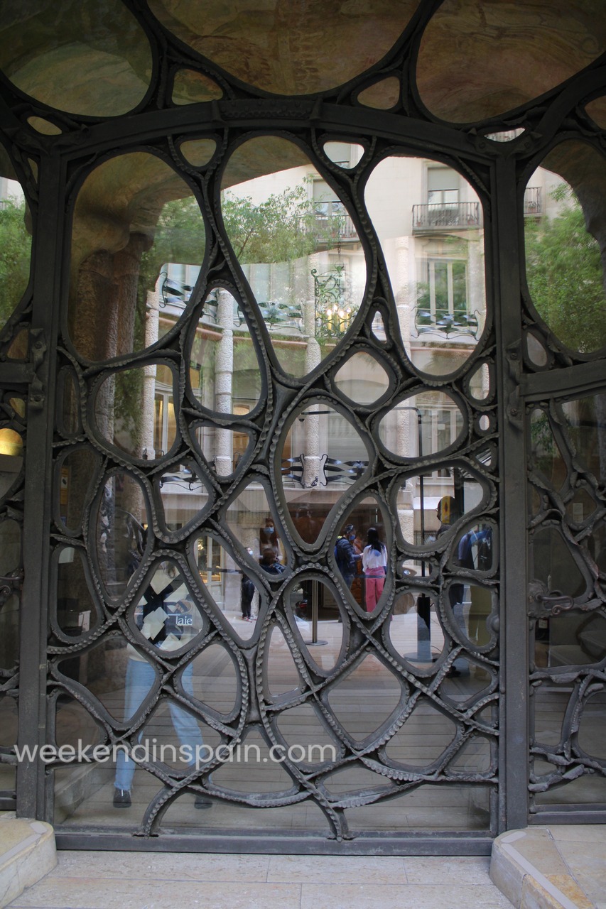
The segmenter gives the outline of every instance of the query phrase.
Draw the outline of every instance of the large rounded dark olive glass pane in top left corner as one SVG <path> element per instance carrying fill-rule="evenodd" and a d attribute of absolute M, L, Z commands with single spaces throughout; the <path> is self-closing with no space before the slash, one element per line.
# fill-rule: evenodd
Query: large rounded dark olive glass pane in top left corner
<path fill-rule="evenodd" d="M 3 35 L 5 75 L 43 105 L 119 116 L 146 94 L 152 70 L 146 33 L 117 0 L 11 16 Z M 24 47 L 35 48 L 35 55 L 24 56 Z"/>

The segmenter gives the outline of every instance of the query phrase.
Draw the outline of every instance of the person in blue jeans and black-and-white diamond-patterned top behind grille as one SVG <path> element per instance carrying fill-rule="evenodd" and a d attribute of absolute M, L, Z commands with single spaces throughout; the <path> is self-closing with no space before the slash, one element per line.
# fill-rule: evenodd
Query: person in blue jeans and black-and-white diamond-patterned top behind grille
<path fill-rule="evenodd" d="M 187 587 L 177 575 L 172 563 L 160 565 L 151 583 L 136 608 L 136 624 L 141 634 L 158 650 L 169 652 L 182 647 L 188 637 L 197 633 L 194 626 L 192 604 L 188 601 Z M 125 682 L 125 720 L 136 714 L 140 704 L 154 686 L 157 674 L 152 664 L 128 644 L 128 664 Z M 181 675 L 181 682 L 187 694 L 194 694 L 193 666 L 187 666 Z M 178 740 L 191 763 L 204 754 L 202 734 L 195 718 L 179 704 L 168 702 L 168 710 Z M 123 749 L 116 756 L 116 778 L 114 781 L 114 806 L 127 808 L 132 804 L 131 789 L 136 762 Z M 202 795 L 196 797 L 197 808 L 209 808 L 212 802 Z"/>

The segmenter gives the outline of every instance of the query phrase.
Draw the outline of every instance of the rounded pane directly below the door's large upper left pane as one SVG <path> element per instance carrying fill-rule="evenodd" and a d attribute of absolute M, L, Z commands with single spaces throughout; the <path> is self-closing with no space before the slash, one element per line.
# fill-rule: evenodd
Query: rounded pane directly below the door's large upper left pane
<path fill-rule="evenodd" d="M 138 460 L 168 454 L 177 437 L 176 382 L 173 369 L 160 361 L 106 374 L 95 395 L 97 432 Z"/>

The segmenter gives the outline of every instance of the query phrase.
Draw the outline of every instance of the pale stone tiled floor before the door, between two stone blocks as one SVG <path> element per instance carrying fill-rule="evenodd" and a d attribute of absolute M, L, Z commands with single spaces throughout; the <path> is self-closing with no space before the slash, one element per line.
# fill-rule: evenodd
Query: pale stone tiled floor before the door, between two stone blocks
<path fill-rule="evenodd" d="M 488 857 L 58 854 L 10 909 L 511 909 Z"/>

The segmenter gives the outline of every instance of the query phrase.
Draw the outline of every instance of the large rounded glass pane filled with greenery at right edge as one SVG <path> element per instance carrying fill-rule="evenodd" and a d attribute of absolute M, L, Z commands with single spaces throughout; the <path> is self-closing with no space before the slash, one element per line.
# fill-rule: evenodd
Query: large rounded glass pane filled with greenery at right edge
<path fill-rule="evenodd" d="M 563 142 L 530 177 L 529 187 L 540 188 L 541 195 L 538 216 L 524 221 L 526 279 L 532 303 L 553 334 L 571 350 L 591 353 L 606 345 L 606 292 L 600 244 L 586 226 L 589 215 L 575 185 L 561 176 L 575 173 L 582 174 L 584 199 L 591 181 L 597 185 L 606 175 L 606 161 L 590 145 Z"/>

